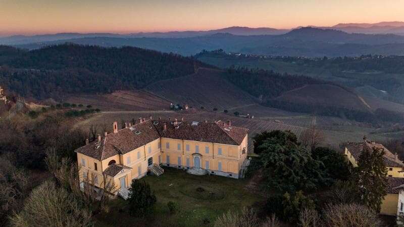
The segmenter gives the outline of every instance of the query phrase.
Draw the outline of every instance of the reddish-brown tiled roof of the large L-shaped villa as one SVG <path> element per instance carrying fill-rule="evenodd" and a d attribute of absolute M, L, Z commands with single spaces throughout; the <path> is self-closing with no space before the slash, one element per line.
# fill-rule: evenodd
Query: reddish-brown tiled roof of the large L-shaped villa
<path fill-rule="evenodd" d="M 125 154 L 160 137 L 194 140 L 201 142 L 240 145 L 248 129 L 224 126 L 223 122 L 195 123 L 165 120 L 147 120 L 130 128 L 110 133 L 100 142 L 94 141 L 75 150 L 75 152 L 104 160 L 117 154 Z M 167 128 L 164 130 L 164 124 Z"/>

